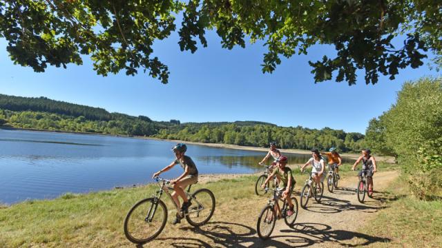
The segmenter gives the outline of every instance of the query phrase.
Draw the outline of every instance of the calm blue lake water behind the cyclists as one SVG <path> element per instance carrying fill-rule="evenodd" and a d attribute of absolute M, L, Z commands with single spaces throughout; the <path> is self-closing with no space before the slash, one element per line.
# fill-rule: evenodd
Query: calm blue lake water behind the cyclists
<path fill-rule="evenodd" d="M 138 138 L 0 130 L 0 202 L 55 198 L 151 182 L 169 165 L 175 143 Z M 262 169 L 265 152 L 189 145 L 200 174 L 248 173 Z M 305 163 L 308 155 L 289 155 Z M 182 174 L 179 165 L 162 176 Z"/>

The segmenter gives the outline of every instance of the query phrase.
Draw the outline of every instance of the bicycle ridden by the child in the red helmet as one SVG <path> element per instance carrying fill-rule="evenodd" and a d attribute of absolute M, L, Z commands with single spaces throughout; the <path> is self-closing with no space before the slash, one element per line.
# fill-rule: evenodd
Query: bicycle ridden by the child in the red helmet
<path fill-rule="evenodd" d="M 289 227 L 293 227 L 296 217 L 298 216 L 298 200 L 294 196 L 291 196 L 291 203 L 294 205 L 294 213 L 289 216 L 287 211 L 289 211 L 289 204 L 287 200 L 282 200 L 282 209 L 279 206 L 278 200 L 281 200 L 282 192 L 285 188 L 269 189 L 266 187 L 266 191 L 273 191 L 273 196 L 269 199 L 267 205 L 262 209 L 260 216 L 258 217 L 258 223 L 256 224 L 256 230 L 258 236 L 262 239 L 269 238 L 273 228 L 275 227 L 277 214 L 280 214 L 279 218 L 284 218 L 285 224 Z M 276 210 L 275 210 L 276 206 Z M 278 218 L 278 219 L 279 219 Z"/>

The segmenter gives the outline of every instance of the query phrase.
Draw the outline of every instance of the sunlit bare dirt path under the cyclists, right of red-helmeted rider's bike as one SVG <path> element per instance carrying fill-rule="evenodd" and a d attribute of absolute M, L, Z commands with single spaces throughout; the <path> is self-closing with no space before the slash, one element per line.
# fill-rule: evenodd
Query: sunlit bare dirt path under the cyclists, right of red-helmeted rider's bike
<path fill-rule="evenodd" d="M 291 247 L 340 247 L 360 246 L 385 242 L 387 239 L 357 232 L 374 214 L 385 207 L 383 189 L 397 176 L 397 172 L 380 172 L 374 177 L 374 198 L 365 196 L 365 203 L 358 202 L 355 187 L 357 178 L 340 181 L 334 193 L 326 189 L 321 203 L 310 199 L 307 209 L 300 208 L 297 225 L 289 228 L 284 220 L 276 223 L 271 242 L 282 242 Z M 325 186 L 327 187 L 327 186 Z M 299 200 L 299 198 L 298 198 Z M 244 244 L 247 246 L 247 244 Z M 251 244 L 250 244 L 251 245 Z M 273 247 L 272 244 L 265 247 Z M 280 247 L 275 245 L 274 247 Z"/>

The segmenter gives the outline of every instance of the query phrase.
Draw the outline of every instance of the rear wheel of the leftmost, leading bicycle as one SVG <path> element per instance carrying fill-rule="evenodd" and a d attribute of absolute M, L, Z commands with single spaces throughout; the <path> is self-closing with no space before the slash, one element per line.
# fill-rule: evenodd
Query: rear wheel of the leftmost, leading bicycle
<path fill-rule="evenodd" d="M 186 220 L 193 227 L 204 225 L 215 211 L 215 196 L 209 189 L 198 189 L 191 196 L 191 207 L 187 210 Z"/>

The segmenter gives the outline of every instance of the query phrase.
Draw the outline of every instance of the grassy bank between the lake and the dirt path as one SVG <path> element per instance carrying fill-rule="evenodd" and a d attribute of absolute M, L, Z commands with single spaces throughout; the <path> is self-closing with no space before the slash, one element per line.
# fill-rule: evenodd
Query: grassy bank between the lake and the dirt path
<path fill-rule="evenodd" d="M 356 176 L 349 167 L 342 167 L 342 176 Z M 394 166 L 380 164 L 379 169 L 394 169 Z M 294 175 L 298 182 L 295 190 L 299 191 L 307 174 L 300 175 L 299 169 L 294 169 Z M 234 247 L 238 242 L 236 236 L 255 234 L 256 218 L 267 203 L 267 196 L 254 193 L 256 178 L 256 175 L 242 176 L 193 187 L 193 190 L 211 189 L 217 201 L 212 224 L 202 227 L 204 234 L 189 231 L 190 225 L 185 221 L 171 225 L 175 211 L 171 200 L 163 197 L 169 209 L 168 224 L 149 245 L 167 247 L 185 241 L 186 245 L 182 246 L 213 247 L 222 240 L 226 246 Z M 133 247 L 124 236 L 124 218 L 132 205 L 155 190 L 156 185 L 146 185 L 90 194 L 68 193 L 54 200 L 30 200 L 10 207 L 2 205 L 0 247 Z"/>

